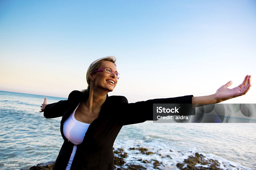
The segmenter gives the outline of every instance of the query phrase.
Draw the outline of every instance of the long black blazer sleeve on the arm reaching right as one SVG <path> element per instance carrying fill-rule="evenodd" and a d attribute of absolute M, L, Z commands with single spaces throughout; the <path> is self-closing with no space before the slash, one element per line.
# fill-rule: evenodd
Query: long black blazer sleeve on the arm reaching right
<path fill-rule="evenodd" d="M 174 98 L 152 99 L 147 101 L 139 101 L 136 103 L 123 102 L 117 109 L 118 113 L 116 114 L 116 117 L 118 117 L 120 124 L 123 126 L 142 123 L 147 120 L 153 120 L 154 103 L 192 103 L 192 97 L 193 95 Z M 125 99 L 123 99 L 123 101 Z"/>

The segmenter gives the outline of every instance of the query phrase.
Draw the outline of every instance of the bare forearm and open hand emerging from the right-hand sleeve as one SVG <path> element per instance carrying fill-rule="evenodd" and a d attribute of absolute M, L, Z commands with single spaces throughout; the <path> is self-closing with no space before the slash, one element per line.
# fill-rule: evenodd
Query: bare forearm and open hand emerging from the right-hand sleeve
<path fill-rule="evenodd" d="M 193 108 L 211 103 L 219 103 L 246 94 L 251 87 L 251 76 L 247 75 L 242 84 L 229 89 L 228 87 L 231 85 L 232 81 L 229 81 L 227 84 L 221 86 L 213 95 L 192 97 Z"/>

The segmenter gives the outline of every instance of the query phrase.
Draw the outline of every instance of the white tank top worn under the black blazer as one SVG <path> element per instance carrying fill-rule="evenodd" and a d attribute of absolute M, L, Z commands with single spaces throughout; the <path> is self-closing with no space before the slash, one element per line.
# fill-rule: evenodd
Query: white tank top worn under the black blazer
<path fill-rule="evenodd" d="M 79 103 L 80 104 L 80 103 Z M 78 104 L 78 106 L 79 106 Z M 76 154 L 77 146 L 78 144 L 81 144 L 83 141 L 83 138 L 85 136 L 85 133 L 89 127 L 90 124 L 79 122 L 75 119 L 75 111 L 68 117 L 68 119 L 63 123 L 63 134 L 64 136 L 74 144 L 73 151 L 71 153 L 70 159 L 68 161 L 68 165 L 66 170 L 69 170 L 71 167 L 71 164 L 73 162 L 74 156 Z"/>

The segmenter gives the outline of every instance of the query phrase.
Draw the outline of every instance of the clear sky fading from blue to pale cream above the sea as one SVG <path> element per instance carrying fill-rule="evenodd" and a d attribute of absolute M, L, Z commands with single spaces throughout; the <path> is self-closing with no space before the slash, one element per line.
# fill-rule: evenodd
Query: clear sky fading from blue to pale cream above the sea
<path fill-rule="evenodd" d="M 116 56 L 109 95 L 203 96 L 252 75 L 230 103 L 256 103 L 255 1 L 0 1 L 0 90 L 67 97 Z"/>

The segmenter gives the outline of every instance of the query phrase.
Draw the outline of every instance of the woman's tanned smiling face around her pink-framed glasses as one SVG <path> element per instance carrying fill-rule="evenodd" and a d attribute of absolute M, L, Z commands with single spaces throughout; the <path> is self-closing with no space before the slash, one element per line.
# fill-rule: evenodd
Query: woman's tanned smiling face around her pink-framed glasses
<path fill-rule="evenodd" d="M 117 72 L 115 64 L 111 61 L 101 62 L 101 65 L 99 68 L 97 68 L 97 70 L 105 67 L 108 67 L 114 72 Z M 91 73 L 89 77 L 91 80 L 91 88 L 106 90 L 107 93 L 109 91 L 113 91 L 118 82 L 118 78 L 115 76 L 115 73 L 111 74 L 106 73 L 105 71 Z"/>

